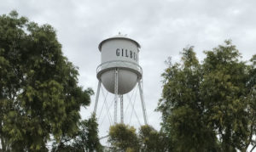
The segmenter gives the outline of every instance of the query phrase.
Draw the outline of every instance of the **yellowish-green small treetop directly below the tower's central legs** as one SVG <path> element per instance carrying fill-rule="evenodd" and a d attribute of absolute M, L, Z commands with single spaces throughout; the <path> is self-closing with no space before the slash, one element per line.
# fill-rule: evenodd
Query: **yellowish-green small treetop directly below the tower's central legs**
<path fill-rule="evenodd" d="M 108 143 L 113 151 L 139 151 L 136 129 L 125 124 L 116 124 L 109 128 Z"/>

